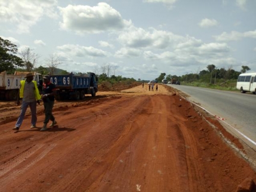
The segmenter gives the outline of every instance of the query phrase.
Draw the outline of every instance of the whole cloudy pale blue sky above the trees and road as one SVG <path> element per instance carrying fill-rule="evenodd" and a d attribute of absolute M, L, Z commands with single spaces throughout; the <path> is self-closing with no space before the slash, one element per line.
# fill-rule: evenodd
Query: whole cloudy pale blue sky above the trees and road
<path fill-rule="evenodd" d="M 256 72 L 256 0 L 0 0 L 0 36 L 68 72 Z"/>

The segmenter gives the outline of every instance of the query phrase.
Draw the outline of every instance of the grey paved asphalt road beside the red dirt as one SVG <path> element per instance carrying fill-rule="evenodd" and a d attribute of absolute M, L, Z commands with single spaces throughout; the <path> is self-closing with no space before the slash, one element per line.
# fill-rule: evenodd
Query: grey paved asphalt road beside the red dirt
<path fill-rule="evenodd" d="M 226 123 L 223 122 L 222 124 L 256 150 L 256 95 L 176 84 L 167 84 L 167 86 L 172 86 L 186 93 L 189 95 L 187 99 L 190 101 L 200 103 L 202 108 L 224 118 Z"/>

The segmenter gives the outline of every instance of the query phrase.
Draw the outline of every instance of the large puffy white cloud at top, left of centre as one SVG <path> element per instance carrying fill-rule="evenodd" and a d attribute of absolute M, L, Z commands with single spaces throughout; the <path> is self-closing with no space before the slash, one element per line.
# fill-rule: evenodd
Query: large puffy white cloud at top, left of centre
<path fill-rule="evenodd" d="M 106 3 L 94 7 L 68 5 L 59 10 L 63 19 L 60 28 L 77 34 L 122 30 L 131 25 L 131 21 L 122 19 L 121 14 Z"/>

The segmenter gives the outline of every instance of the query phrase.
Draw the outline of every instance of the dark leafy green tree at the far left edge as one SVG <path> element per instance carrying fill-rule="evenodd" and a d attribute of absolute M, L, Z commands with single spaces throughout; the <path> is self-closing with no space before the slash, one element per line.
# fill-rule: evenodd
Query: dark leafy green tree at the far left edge
<path fill-rule="evenodd" d="M 22 58 L 14 55 L 18 51 L 16 47 L 11 41 L 0 37 L 0 72 L 14 72 L 17 67 L 24 67 Z"/>

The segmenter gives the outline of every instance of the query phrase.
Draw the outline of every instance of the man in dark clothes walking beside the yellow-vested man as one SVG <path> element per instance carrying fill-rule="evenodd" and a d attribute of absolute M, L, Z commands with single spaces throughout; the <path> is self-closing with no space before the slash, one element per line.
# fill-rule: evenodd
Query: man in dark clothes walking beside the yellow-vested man
<path fill-rule="evenodd" d="M 45 107 L 45 120 L 44 120 L 44 125 L 42 126 L 42 129 L 40 129 L 40 131 L 47 130 L 47 123 L 50 120 L 52 121 L 52 124 L 50 124 L 50 126 L 55 126 L 57 124 L 54 116 L 52 115 L 52 109 L 54 105 L 55 84 L 53 84 L 50 81 L 49 75 L 45 75 L 43 79 L 44 79 L 44 83 L 42 84 L 42 101 L 44 101 L 44 107 Z"/>

